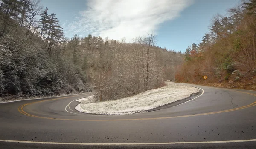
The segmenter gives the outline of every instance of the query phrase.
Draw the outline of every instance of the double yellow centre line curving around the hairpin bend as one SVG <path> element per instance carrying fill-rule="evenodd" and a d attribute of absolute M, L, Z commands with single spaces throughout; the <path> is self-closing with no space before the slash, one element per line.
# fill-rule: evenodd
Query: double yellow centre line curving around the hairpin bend
<path fill-rule="evenodd" d="M 241 91 L 236 91 L 236 92 L 241 92 Z M 252 93 L 248 93 L 248 92 L 242 92 L 242 93 L 246 93 L 246 94 L 250 94 L 253 96 L 256 96 L 256 94 L 252 94 Z M 79 96 L 79 95 L 75 95 L 75 96 Z M 71 96 L 71 97 L 75 97 L 75 96 Z M 69 96 L 70 97 L 70 96 Z M 56 99 L 51 99 L 51 100 L 58 100 L 58 99 L 64 99 L 64 98 L 69 98 L 69 97 L 61 97 L 61 98 L 56 98 Z M 44 119 L 50 119 L 50 120 L 73 120 L 73 121 L 128 121 L 128 120 L 158 120 L 158 119 L 169 119 L 169 118 L 180 118 L 180 117 L 192 117 L 192 116 L 200 116 L 200 115 L 212 115 L 212 114 L 217 114 L 217 113 L 224 113 L 224 112 L 231 112 L 231 111 L 236 111 L 236 110 L 241 110 L 241 109 L 245 109 L 245 108 L 249 108 L 252 106 L 256 105 L 256 101 L 254 103 L 251 103 L 249 105 L 246 106 L 242 106 L 239 108 L 235 108 L 235 109 L 228 109 L 228 110 L 223 110 L 223 111 L 217 111 L 217 112 L 208 112 L 208 113 L 201 113 L 201 114 L 195 114 L 195 115 L 182 115 L 182 116 L 173 116 L 173 117 L 154 117 L 154 118 L 135 118 L 135 119 L 109 119 L 109 120 L 77 120 L 77 119 L 63 119 L 63 118 L 52 118 L 52 117 L 41 117 L 41 116 L 36 116 L 36 115 L 31 115 L 27 112 L 25 112 L 23 110 L 23 108 L 27 105 L 33 104 L 33 103 L 40 103 L 40 102 L 44 102 L 44 101 L 51 101 L 51 100 L 43 100 L 43 101 L 37 101 L 37 102 L 32 102 L 32 103 L 26 103 L 23 104 L 21 106 L 19 106 L 18 111 L 26 116 L 29 117 L 36 117 L 36 118 L 44 118 Z"/>

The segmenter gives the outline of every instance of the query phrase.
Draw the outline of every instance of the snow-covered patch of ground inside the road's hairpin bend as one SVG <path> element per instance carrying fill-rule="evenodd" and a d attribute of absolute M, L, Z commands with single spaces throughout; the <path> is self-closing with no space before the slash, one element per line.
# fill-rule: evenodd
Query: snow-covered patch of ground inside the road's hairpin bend
<path fill-rule="evenodd" d="M 192 93 L 199 92 L 199 89 L 195 87 L 176 83 L 168 84 L 168 86 L 159 89 L 148 90 L 132 97 L 118 100 L 93 103 L 93 96 L 79 99 L 77 101 L 81 102 L 81 104 L 76 106 L 76 110 L 102 115 L 128 115 L 146 112 L 146 110 L 188 98 Z"/>

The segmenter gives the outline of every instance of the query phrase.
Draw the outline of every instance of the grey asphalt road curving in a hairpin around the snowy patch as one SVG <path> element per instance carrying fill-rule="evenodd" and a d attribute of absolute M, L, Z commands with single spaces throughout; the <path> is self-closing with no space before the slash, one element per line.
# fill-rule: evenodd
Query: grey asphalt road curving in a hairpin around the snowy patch
<path fill-rule="evenodd" d="M 253 148 L 256 92 L 191 85 L 186 103 L 134 115 L 77 112 L 90 93 L 0 104 L 1 148 Z"/>

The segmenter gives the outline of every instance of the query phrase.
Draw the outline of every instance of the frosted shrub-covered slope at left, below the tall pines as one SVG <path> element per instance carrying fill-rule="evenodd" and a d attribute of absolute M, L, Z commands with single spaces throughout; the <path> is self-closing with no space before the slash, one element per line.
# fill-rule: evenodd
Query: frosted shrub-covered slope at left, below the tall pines
<path fill-rule="evenodd" d="M 12 20 L 14 21 L 14 20 Z M 17 23 L 9 26 L 15 29 Z M 0 97 L 24 98 L 89 92 L 86 74 L 70 60 L 49 57 L 45 43 L 24 28 L 0 40 Z"/>

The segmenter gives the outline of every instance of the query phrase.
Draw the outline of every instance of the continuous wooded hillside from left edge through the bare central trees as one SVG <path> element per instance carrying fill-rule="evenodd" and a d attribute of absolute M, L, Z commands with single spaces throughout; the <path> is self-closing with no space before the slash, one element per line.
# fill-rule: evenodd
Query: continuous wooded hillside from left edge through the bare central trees
<path fill-rule="evenodd" d="M 174 80 L 183 54 L 154 34 L 133 42 L 74 35 L 39 0 L 0 0 L 0 98 L 96 91 L 96 100 L 128 97 Z M 125 35 L 123 35 L 125 37 Z"/>

